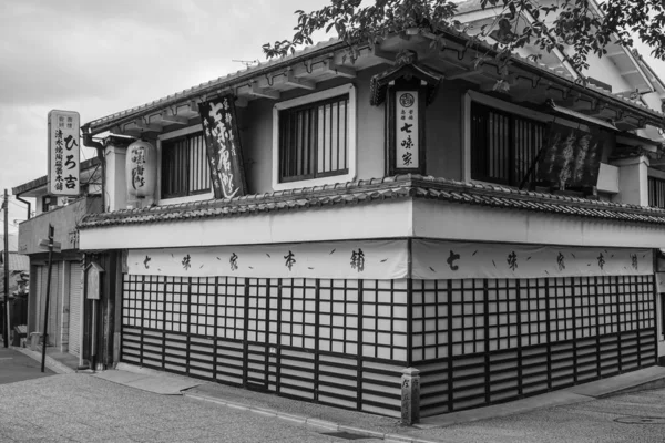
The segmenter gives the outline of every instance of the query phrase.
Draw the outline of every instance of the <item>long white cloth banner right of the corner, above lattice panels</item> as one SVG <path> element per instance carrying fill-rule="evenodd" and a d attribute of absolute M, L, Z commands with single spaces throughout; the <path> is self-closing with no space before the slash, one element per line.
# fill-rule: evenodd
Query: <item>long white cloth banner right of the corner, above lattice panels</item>
<path fill-rule="evenodd" d="M 546 278 L 651 275 L 651 249 L 413 240 L 412 278 Z"/>

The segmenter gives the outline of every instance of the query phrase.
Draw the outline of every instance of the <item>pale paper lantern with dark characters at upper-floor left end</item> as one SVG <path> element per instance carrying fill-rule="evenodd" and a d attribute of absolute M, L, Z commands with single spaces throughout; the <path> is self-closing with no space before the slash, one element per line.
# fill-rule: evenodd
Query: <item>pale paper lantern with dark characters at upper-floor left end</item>
<path fill-rule="evenodd" d="M 157 150 L 142 140 L 132 143 L 127 147 L 125 166 L 130 197 L 153 197 L 157 182 Z"/>

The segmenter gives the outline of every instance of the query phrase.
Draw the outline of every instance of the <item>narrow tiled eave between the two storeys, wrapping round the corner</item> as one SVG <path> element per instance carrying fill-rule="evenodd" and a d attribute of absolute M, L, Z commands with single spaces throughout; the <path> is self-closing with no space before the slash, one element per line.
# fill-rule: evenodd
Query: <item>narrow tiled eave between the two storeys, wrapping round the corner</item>
<path fill-rule="evenodd" d="M 83 219 L 80 228 L 234 217 L 396 198 L 423 198 L 464 205 L 665 225 L 664 209 L 408 174 L 231 199 L 90 214 Z"/>

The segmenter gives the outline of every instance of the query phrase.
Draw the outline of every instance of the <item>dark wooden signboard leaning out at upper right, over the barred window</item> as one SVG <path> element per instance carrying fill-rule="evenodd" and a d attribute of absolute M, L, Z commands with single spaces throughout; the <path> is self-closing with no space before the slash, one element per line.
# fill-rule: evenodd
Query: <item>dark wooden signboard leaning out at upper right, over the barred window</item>
<path fill-rule="evenodd" d="M 604 143 L 601 131 L 589 133 L 552 123 L 548 146 L 539 162 L 538 181 L 561 189 L 596 186 Z"/>

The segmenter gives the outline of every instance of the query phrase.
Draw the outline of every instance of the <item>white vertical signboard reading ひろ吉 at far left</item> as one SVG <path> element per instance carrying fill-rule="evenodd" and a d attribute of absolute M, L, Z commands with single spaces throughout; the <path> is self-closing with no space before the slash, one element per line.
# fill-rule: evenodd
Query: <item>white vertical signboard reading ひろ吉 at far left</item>
<path fill-rule="evenodd" d="M 79 195 L 80 122 L 78 112 L 49 112 L 49 195 Z"/>

